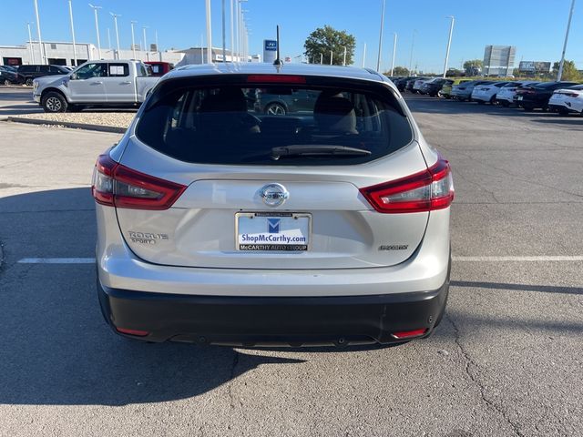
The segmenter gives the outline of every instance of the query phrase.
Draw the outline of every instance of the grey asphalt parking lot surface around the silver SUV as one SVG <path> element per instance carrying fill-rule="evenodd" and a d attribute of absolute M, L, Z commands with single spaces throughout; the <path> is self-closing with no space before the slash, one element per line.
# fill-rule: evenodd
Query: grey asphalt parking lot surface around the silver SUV
<path fill-rule="evenodd" d="M 6 89 L 0 117 L 36 110 Z M 435 335 L 392 348 L 116 336 L 88 186 L 120 135 L 0 121 L 0 435 L 580 435 L 583 117 L 407 100 L 454 169 L 454 265 Z"/>

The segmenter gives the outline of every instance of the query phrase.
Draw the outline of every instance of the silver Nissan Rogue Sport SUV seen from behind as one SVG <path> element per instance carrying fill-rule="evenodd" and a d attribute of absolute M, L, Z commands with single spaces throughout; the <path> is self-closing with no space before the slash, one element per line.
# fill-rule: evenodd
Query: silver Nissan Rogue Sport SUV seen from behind
<path fill-rule="evenodd" d="M 261 93 L 310 92 L 265 114 Z M 148 341 L 402 342 L 449 288 L 449 164 L 384 76 L 342 66 L 185 66 L 97 159 L 97 291 Z"/>

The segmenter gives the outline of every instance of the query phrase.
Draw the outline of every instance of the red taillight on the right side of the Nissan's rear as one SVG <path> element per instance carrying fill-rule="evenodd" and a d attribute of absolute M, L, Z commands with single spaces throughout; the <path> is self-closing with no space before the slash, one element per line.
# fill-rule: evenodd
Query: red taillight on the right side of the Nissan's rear
<path fill-rule="evenodd" d="M 423 212 L 452 204 L 454 180 L 449 162 L 440 158 L 427 170 L 360 191 L 378 212 Z"/>

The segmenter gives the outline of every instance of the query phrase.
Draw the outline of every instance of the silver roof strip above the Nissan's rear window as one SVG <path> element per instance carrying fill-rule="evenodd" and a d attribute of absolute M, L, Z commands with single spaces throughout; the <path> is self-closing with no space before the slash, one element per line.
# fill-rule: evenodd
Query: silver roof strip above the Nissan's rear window
<path fill-rule="evenodd" d="M 179 66 L 170 71 L 163 81 L 193 76 L 218 75 L 294 75 L 294 76 L 329 76 L 381 82 L 394 87 L 386 77 L 374 70 L 353 66 L 322 66 L 316 64 L 285 64 L 274 66 L 268 63 L 217 63 Z"/>

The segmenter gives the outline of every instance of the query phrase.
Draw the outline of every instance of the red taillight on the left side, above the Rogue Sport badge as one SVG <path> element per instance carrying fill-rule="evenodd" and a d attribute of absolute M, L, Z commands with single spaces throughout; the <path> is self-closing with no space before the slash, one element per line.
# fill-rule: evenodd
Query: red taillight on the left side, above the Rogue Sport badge
<path fill-rule="evenodd" d="M 101 155 L 93 171 L 91 191 L 101 205 L 117 208 L 168 209 L 184 185 L 146 175 Z"/>

